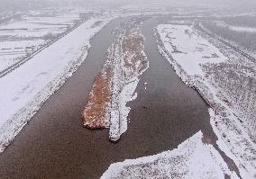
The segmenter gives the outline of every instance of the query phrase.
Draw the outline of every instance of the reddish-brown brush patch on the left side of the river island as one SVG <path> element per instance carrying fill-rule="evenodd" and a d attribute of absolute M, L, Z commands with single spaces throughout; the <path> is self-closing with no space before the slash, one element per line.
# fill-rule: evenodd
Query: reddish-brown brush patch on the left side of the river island
<path fill-rule="evenodd" d="M 111 95 L 110 78 L 109 68 L 103 68 L 96 76 L 86 110 L 83 112 L 84 127 L 90 130 L 105 129 L 107 125 L 105 115 Z"/>

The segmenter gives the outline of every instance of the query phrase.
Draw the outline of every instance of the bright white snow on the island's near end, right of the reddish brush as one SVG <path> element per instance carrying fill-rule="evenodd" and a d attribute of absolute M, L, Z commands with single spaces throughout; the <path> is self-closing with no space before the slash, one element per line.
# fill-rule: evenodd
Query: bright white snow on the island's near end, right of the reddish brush
<path fill-rule="evenodd" d="M 136 99 L 137 95 L 134 94 L 134 92 L 140 81 L 138 76 L 135 76 L 132 80 L 125 82 L 123 73 L 126 72 L 129 74 L 130 71 L 123 67 L 123 55 L 118 54 L 118 52 L 122 51 L 122 49 L 119 49 L 120 47 L 118 44 L 115 45 L 117 45 L 117 47 L 113 46 L 116 49 L 113 51 L 114 76 L 112 79 L 112 106 L 110 109 L 111 117 L 109 129 L 109 139 L 113 141 L 119 140 L 121 135 L 127 130 L 127 117 L 131 111 L 131 108 L 127 107 L 126 104 Z"/>

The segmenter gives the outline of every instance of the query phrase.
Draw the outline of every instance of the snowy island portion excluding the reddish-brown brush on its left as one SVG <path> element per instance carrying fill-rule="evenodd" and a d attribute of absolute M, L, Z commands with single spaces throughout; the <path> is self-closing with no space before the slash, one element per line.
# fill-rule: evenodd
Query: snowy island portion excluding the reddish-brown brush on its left
<path fill-rule="evenodd" d="M 133 24 L 133 28 L 129 30 L 123 28 L 109 49 L 112 53 L 112 66 L 114 67 L 109 129 L 109 139 L 113 141 L 119 140 L 127 130 L 127 117 L 131 108 L 126 105 L 135 100 L 137 94 L 133 93 L 140 81 L 139 76 L 149 67 L 143 51 L 144 39 L 138 26 L 142 22 L 136 18 L 133 21 L 126 24 L 128 27 Z M 136 46 L 129 43 L 131 39 L 137 43 Z"/>

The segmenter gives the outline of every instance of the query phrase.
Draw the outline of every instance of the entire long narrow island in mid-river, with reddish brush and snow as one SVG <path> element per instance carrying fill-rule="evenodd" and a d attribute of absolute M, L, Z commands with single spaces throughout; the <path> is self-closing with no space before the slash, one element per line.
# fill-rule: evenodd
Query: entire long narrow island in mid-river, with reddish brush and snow
<path fill-rule="evenodd" d="M 129 102 L 127 98 L 131 92 L 123 94 L 123 87 L 137 81 L 149 66 L 139 28 L 144 20 L 123 22 L 122 28 L 115 34 L 114 43 L 107 50 L 105 66 L 96 76 L 83 112 L 85 127 L 91 130 L 109 127 L 112 140 L 120 139 L 127 128 L 126 112 L 130 109 L 125 108 L 125 104 Z"/>

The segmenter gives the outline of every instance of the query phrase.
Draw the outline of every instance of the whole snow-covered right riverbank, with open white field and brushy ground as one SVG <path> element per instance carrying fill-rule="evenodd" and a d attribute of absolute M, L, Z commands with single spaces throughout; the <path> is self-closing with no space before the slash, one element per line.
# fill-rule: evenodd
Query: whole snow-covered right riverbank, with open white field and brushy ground
<path fill-rule="evenodd" d="M 211 124 L 221 149 L 243 178 L 255 177 L 255 63 L 185 24 L 160 24 L 156 36 L 178 76 L 213 108 Z"/>

